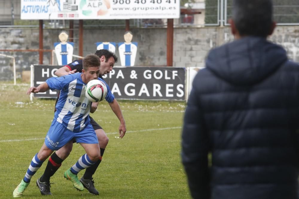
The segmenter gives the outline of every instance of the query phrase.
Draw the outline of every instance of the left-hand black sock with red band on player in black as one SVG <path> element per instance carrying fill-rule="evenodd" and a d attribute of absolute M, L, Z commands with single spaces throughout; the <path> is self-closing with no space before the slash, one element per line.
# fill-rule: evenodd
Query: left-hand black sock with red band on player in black
<path fill-rule="evenodd" d="M 63 160 L 59 158 L 54 152 L 48 160 L 48 164 L 45 168 L 44 174 L 39 178 L 40 182 L 49 182 L 51 176 L 59 169 Z"/>

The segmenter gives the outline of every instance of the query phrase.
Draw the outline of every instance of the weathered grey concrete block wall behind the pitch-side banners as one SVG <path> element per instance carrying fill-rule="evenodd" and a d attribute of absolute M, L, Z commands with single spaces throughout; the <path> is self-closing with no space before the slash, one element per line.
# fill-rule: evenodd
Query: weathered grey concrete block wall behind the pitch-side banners
<path fill-rule="evenodd" d="M 44 29 L 44 49 L 54 49 L 54 42 L 59 41 L 61 29 Z M 166 65 L 166 29 L 132 29 L 133 40 L 138 42 L 136 66 Z M 94 53 L 97 41 L 123 42 L 123 29 L 101 28 L 84 29 L 84 55 Z M 210 49 L 232 41 L 229 27 L 175 28 L 173 39 L 173 66 L 204 66 Z M 299 27 L 277 27 L 270 40 L 283 45 L 290 59 L 299 61 Z M 78 55 L 78 31 L 74 31 L 74 54 Z M 38 49 L 39 30 L 36 29 L 0 29 L 0 49 Z M 23 70 L 30 70 L 30 64 L 38 64 L 38 52 L 3 52 L 16 58 L 17 76 L 21 78 Z M 118 55 L 118 50 L 117 50 Z M 50 63 L 51 54 L 44 53 L 44 64 Z M 120 65 L 120 61 L 115 65 Z M 0 56 L 0 80 L 12 80 L 12 61 Z"/>

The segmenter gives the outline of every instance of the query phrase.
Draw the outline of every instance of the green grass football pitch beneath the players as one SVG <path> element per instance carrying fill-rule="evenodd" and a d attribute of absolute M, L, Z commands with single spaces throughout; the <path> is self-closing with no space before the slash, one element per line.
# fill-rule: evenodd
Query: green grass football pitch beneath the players
<path fill-rule="evenodd" d="M 29 84 L 0 82 L 0 198 L 12 198 L 31 159 L 39 151 L 53 119 L 54 100 L 25 95 Z M 79 192 L 63 178 L 85 152 L 74 144 L 71 155 L 51 178 L 57 198 L 190 198 L 180 158 L 184 102 L 119 101 L 127 133 L 118 138 L 119 121 L 108 103 L 99 104 L 92 117 L 109 137 L 103 161 L 94 175 L 99 196 Z M 45 198 L 36 187 L 46 162 L 31 179 L 22 198 Z M 78 176 L 81 177 L 84 171 Z"/>

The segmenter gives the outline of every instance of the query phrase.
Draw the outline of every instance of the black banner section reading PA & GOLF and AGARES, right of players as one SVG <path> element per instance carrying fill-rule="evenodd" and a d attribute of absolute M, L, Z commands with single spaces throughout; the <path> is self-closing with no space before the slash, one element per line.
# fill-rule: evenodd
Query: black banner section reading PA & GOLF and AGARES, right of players
<path fill-rule="evenodd" d="M 185 100 L 185 68 L 113 67 L 103 78 L 117 99 Z"/>

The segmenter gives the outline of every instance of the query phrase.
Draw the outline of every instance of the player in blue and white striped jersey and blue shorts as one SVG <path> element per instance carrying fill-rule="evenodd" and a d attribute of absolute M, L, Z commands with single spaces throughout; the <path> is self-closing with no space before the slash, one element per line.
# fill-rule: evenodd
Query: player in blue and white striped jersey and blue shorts
<path fill-rule="evenodd" d="M 80 191 L 84 190 L 77 173 L 90 167 L 100 158 L 100 147 L 97 136 L 90 124 L 89 112 L 91 102 L 85 97 L 85 86 L 93 80 L 100 79 L 100 60 L 96 55 L 87 55 L 83 59 L 82 73 L 52 77 L 38 87 L 30 87 L 27 94 L 31 92 L 45 92 L 49 89 L 61 90 L 60 100 L 57 103 L 57 111 L 54 114 L 53 122 L 45 137 L 45 142 L 38 153 L 32 158 L 29 168 L 21 183 L 13 191 L 13 197 L 20 197 L 28 187 L 30 179 L 42 166 L 42 163 L 53 153 L 60 149 L 73 138 L 85 149 L 86 154 L 82 155 L 76 164 L 64 173 L 64 177 L 72 181 L 74 187 Z M 105 81 L 103 81 L 105 82 Z M 106 84 L 106 82 L 105 82 Z M 107 86 L 106 101 L 112 102 L 114 95 Z"/>

